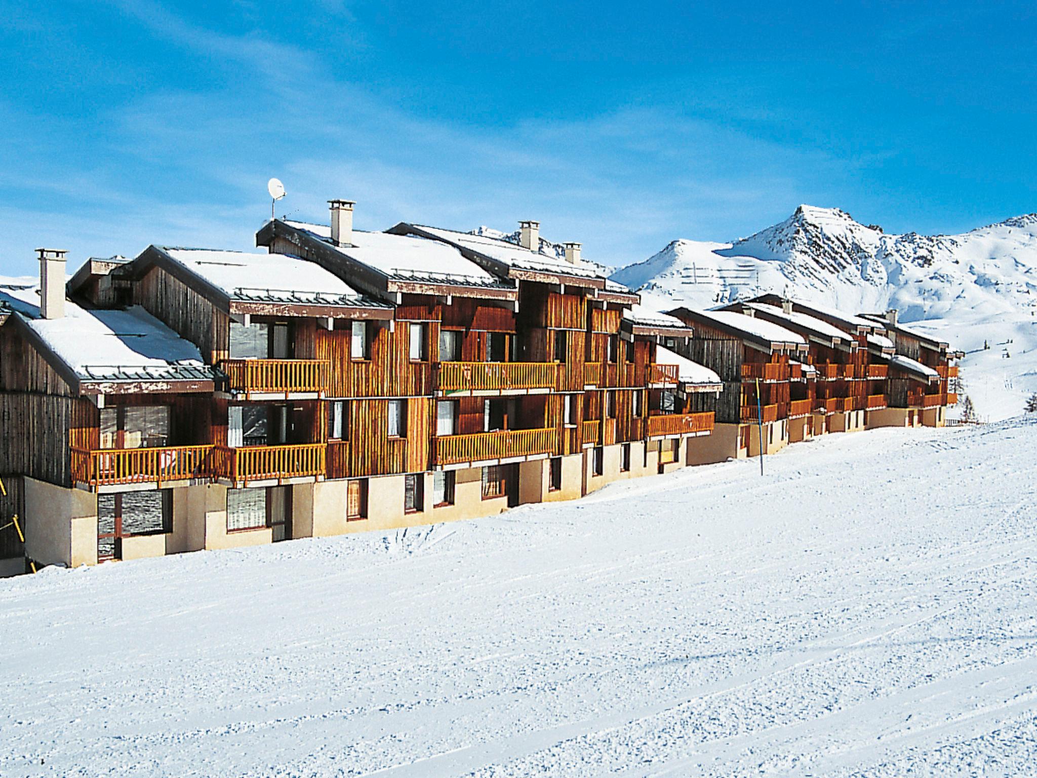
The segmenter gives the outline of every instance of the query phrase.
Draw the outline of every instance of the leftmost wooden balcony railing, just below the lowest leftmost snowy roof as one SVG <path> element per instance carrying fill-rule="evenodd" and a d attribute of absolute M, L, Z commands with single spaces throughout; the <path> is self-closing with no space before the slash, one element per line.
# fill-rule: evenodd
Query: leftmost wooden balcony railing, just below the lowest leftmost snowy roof
<path fill-rule="evenodd" d="M 72 476 L 77 483 L 106 487 L 117 483 L 164 483 L 213 475 L 213 446 L 161 448 L 73 447 Z"/>

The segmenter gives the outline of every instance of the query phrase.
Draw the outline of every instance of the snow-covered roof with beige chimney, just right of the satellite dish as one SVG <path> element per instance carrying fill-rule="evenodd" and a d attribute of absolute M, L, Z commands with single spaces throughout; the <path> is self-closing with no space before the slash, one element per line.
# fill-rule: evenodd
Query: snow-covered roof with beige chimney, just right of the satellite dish
<path fill-rule="evenodd" d="M 285 224 L 333 246 L 331 227 L 325 224 L 296 221 Z M 352 246 L 333 248 L 392 279 L 469 286 L 500 285 L 500 279 L 465 258 L 454 246 L 441 241 L 355 229 L 352 243 Z"/>

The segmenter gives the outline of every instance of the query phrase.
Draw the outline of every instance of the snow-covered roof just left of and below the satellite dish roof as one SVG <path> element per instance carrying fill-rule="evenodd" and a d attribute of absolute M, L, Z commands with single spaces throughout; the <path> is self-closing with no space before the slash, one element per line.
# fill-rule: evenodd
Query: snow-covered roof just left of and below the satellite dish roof
<path fill-rule="evenodd" d="M 325 305 L 363 303 L 361 294 L 315 262 L 288 254 L 159 247 L 232 300 L 283 300 Z"/>

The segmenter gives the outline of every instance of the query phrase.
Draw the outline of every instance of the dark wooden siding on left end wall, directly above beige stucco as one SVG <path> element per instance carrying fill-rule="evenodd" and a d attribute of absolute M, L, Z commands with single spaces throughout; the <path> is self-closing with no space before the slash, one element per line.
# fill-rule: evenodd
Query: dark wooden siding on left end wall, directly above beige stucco
<path fill-rule="evenodd" d="M 88 440 L 96 413 L 84 398 L 0 392 L 0 472 L 71 487 L 68 442 Z"/>

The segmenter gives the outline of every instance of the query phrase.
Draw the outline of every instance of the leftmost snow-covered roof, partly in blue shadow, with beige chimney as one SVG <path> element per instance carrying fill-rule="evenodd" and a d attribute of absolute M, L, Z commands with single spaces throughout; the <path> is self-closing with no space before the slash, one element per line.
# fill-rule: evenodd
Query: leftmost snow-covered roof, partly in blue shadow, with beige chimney
<path fill-rule="evenodd" d="M 0 287 L 0 299 L 81 381 L 215 380 L 194 343 L 140 306 L 96 310 L 68 300 L 63 316 L 40 318 L 38 288 Z"/>

